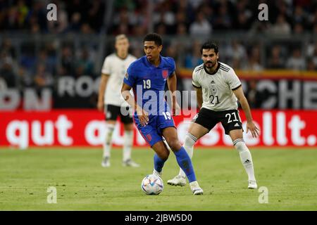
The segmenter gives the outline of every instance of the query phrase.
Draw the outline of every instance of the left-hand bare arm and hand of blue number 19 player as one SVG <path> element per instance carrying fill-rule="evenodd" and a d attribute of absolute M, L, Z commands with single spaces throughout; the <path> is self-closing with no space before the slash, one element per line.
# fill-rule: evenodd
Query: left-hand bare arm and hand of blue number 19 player
<path fill-rule="evenodd" d="M 129 105 L 137 111 L 137 116 L 139 117 L 139 122 L 142 124 L 142 126 L 147 125 L 149 122 L 149 114 L 144 111 L 139 105 L 137 105 L 137 102 L 135 101 L 135 98 L 130 93 L 131 86 L 128 84 L 123 83 L 121 88 L 121 95 L 125 99 Z"/>

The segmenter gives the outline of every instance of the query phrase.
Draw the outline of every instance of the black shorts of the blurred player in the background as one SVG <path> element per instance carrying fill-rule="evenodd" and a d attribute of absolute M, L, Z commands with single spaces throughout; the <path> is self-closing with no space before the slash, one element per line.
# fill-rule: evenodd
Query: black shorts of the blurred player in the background
<path fill-rule="evenodd" d="M 132 124 L 133 119 L 130 112 L 130 107 L 120 107 L 117 105 L 105 105 L 104 106 L 104 115 L 106 120 L 117 120 L 120 116 L 121 122 L 123 124 Z"/>

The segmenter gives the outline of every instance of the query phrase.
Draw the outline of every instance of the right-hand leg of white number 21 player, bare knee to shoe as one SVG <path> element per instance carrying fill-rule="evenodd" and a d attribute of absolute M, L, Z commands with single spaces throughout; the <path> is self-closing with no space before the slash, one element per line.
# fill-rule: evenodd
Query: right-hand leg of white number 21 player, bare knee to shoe
<path fill-rule="evenodd" d="M 249 185 L 248 188 L 256 189 L 258 188 L 256 184 L 256 179 L 254 176 L 254 167 L 253 161 L 251 158 L 251 153 L 249 148 L 247 148 L 246 144 L 243 141 L 242 129 L 235 129 L 229 132 L 229 135 L 232 139 L 233 145 L 237 149 L 240 155 L 240 160 L 242 165 L 244 166 L 245 171 L 247 172 Z"/>

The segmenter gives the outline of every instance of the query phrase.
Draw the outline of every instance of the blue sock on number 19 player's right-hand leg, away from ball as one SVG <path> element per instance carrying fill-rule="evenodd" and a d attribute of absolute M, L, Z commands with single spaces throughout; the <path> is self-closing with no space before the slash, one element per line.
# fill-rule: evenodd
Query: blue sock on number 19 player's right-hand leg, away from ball
<path fill-rule="evenodd" d="M 177 152 L 174 152 L 176 156 L 176 160 L 178 161 L 178 165 L 185 172 L 189 183 L 192 181 L 196 181 L 196 175 L 194 172 L 194 168 L 192 167 L 192 160 L 189 158 L 188 154 L 184 147 L 180 148 Z"/>

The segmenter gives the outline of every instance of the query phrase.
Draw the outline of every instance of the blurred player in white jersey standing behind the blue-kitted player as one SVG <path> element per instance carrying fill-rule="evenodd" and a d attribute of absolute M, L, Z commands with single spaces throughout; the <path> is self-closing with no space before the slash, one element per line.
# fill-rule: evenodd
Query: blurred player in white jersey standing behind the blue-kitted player
<path fill-rule="evenodd" d="M 128 103 L 121 96 L 123 77 L 129 65 L 137 58 L 128 53 L 129 40 L 125 34 L 116 36 L 116 53 L 112 53 L 104 60 L 99 85 L 98 110 L 104 110 L 106 117 L 106 136 L 102 167 L 110 167 L 110 150 L 112 145 L 113 129 L 117 117 L 120 116 L 125 130 L 123 140 L 123 166 L 139 167 L 131 158 L 133 145 L 133 120 Z"/>

